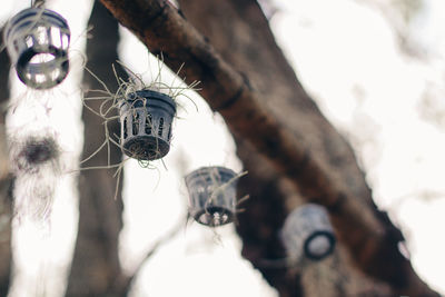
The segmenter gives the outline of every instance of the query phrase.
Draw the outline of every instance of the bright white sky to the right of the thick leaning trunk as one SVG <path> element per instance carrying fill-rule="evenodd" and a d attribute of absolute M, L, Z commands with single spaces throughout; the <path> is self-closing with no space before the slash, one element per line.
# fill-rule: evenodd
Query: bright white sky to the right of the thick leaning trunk
<path fill-rule="evenodd" d="M 416 270 L 445 293 L 445 240 L 437 236 L 445 226 L 445 126 L 431 117 L 445 115 L 443 1 L 424 1 L 408 36 L 429 52 L 425 60 L 404 56 L 387 19 L 366 1 L 278 2 L 286 11 L 273 20 L 280 46 L 352 140 L 377 204 L 408 239 Z"/>

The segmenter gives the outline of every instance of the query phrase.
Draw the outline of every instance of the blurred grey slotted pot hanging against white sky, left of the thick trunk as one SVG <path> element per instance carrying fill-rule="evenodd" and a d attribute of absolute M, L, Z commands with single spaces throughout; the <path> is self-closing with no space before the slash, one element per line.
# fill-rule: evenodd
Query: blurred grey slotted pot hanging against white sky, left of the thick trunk
<path fill-rule="evenodd" d="M 185 177 L 189 212 L 211 227 L 231 222 L 236 211 L 237 175 L 225 167 L 201 167 Z"/>

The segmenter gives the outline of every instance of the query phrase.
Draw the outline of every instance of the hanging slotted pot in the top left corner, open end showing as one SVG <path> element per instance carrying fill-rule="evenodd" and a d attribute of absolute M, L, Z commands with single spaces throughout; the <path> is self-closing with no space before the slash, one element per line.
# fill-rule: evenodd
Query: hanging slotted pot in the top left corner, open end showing
<path fill-rule="evenodd" d="M 57 12 L 30 8 L 7 24 L 4 43 L 20 80 L 34 89 L 49 89 L 68 75 L 70 29 Z"/>

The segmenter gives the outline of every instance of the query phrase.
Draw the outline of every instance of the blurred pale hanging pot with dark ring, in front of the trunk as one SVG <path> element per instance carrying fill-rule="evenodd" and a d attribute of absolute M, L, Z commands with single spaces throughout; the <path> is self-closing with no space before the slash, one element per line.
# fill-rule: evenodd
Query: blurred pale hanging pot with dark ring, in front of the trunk
<path fill-rule="evenodd" d="M 307 204 L 290 212 L 281 229 L 281 240 L 291 259 L 320 260 L 334 251 L 335 236 L 324 207 Z"/>

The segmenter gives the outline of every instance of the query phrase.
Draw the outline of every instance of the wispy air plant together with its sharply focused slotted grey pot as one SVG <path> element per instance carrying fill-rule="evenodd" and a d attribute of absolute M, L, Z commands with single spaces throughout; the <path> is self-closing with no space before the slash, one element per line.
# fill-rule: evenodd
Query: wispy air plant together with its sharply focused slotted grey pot
<path fill-rule="evenodd" d="M 81 164 L 91 160 L 102 149 L 107 149 L 108 160 L 106 165 L 85 167 L 81 170 L 116 168 L 115 198 L 118 192 L 121 169 L 126 161 L 136 159 L 144 168 L 155 168 L 150 165 L 150 161 L 167 155 L 172 137 L 171 120 L 176 117 L 178 106 L 177 98 L 185 97 L 190 99 L 187 91 L 198 90 L 198 81 L 194 81 L 188 86 L 180 86 L 180 83 L 176 86 L 175 80 L 171 83 L 164 82 L 161 77 L 164 63 L 161 59 L 157 59 L 158 73 L 150 83 L 145 83 L 140 75 L 132 72 L 128 67 L 118 62 L 129 73 L 130 78 L 125 80 L 117 75 L 116 68 L 112 66 L 118 83 L 116 92 L 111 92 L 110 88 L 99 77 L 86 68 L 99 81 L 102 89 L 92 90 L 99 96 L 83 98 L 83 106 L 103 120 L 105 140 Z M 177 76 L 182 66 L 179 68 Z M 92 100 L 101 101 L 98 109 L 93 109 L 88 105 Z M 120 136 L 111 135 L 109 130 L 109 125 L 116 120 L 120 121 Z M 128 158 L 123 158 L 118 164 L 111 164 L 111 146 L 119 147 Z"/>

